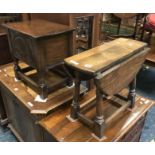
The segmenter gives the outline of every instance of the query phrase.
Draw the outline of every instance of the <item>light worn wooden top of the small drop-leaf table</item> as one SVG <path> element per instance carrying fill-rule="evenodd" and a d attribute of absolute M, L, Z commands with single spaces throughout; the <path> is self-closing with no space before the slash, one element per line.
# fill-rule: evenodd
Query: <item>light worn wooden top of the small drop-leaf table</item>
<path fill-rule="evenodd" d="M 66 58 L 67 65 L 84 73 L 96 74 L 139 53 L 147 43 L 119 38 L 83 53 Z"/>

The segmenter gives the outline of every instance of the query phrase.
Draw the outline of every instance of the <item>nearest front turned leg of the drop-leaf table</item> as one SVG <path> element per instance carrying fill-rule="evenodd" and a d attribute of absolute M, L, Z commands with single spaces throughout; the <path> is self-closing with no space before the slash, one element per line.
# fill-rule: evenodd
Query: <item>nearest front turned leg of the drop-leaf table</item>
<path fill-rule="evenodd" d="M 98 138 L 103 137 L 105 120 L 103 115 L 103 95 L 96 89 L 96 117 L 94 121 L 94 133 Z"/>

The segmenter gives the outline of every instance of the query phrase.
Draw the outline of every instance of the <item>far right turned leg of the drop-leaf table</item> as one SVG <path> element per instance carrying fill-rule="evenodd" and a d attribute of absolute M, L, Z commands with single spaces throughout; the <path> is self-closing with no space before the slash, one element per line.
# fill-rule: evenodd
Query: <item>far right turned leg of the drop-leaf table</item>
<path fill-rule="evenodd" d="M 136 78 L 129 85 L 128 100 L 130 101 L 130 108 L 134 108 L 136 98 Z"/>

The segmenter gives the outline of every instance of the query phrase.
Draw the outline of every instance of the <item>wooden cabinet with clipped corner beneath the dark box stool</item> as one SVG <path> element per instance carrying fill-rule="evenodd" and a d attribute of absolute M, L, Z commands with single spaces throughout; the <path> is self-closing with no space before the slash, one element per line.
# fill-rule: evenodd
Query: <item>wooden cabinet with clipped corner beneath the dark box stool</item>
<path fill-rule="evenodd" d="M 20 63 L 20 66 L 26 65 Z M 35 91 L 23 82 L 15 81 L 12 63 L 1 67 L 0 71 L 0 90 L 11 131 L 19 141 L 45 141 L 38 121 L 71 102 L 73 87 L 54 91 L 43 104 L 37 100 Z M 83 92 L 85 88 L 81 86 Z"/>

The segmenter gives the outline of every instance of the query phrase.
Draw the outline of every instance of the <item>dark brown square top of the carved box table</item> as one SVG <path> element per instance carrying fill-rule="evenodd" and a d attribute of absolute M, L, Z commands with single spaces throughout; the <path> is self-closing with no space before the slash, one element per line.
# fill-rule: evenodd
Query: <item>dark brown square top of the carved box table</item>
<path fill-rule="evenodd" d="M 53 36 L 74 30 L 72 27 L 69 27 L 67 25 L 62 25 L 40 19 L 6 23 L 3 24 L 3 27 L 20 32 L 33 38 Z"/>

